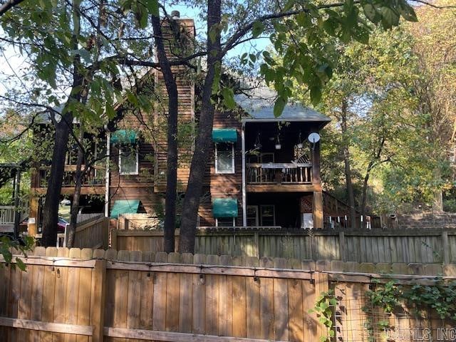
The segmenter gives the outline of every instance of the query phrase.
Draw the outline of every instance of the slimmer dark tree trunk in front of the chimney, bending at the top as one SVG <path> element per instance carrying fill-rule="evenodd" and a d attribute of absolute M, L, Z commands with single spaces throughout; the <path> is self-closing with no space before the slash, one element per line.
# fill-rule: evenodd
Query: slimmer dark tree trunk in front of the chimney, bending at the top
<path fill-rule="evenodd" d="M 158 63 L 160 63 L 160 68 L 165 80 L 165 86 L 168 94 L 167 170 L 163 250 L 170 253 L 175 252 L 177 200 L 177 105 L 179 94 L 177 93 L 175 76 L 172 74 L 170 62 L 166 56 L 159 17 L 152 16 L 152 27 L 155 33 L 155 46 L 157 48 Z"/>

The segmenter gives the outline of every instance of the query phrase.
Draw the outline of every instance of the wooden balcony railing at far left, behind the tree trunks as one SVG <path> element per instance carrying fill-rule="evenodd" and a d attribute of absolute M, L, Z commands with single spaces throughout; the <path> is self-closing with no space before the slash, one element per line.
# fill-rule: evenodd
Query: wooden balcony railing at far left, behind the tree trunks
<path fill-rule="evenodd" d="M 76 185 L 76 170 L 74 165 L 65 167 L 63 174 L 62 187 L 74 187 Z M 49 179 L 49 168 L 39 170 L 39 186 L 47 187 Z M 105 185 L 105 168 L 104 167 L 91 167 L 90 170 L 83 177 L 83 186 L 103 186 Z"/>

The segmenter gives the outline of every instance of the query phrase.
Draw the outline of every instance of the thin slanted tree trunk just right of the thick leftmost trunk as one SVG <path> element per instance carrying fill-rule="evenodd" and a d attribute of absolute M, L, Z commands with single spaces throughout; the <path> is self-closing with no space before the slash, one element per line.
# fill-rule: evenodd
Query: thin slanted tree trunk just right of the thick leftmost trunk
<path fill-rule="evenodd" d="M 84 139 L 84 129 L 83 129 L 83 126 L 81 125 L 80 131 L 79 131 L 79 144 L 81 144 L 81 145 L 83 144 L 83 139 Z M 83 151 L 81 145 L 78 145 L 78 160 L 76 161 L 76 184 L 75 184 L 74 193 L 73 193 L 73 203 L 71 203 L 70 225 L 67 227 L 66 247 L 68 247 L 68 248 L 73 248 L 74 237 L 76 234 L 76 227 L 78 227 L 79 199 L 81 198 L 81 187 L 83 184 L 83 172 L 81 170 L 81 167 L 83 165 L 83 160 L 84 160 L 84 151 Z"/>

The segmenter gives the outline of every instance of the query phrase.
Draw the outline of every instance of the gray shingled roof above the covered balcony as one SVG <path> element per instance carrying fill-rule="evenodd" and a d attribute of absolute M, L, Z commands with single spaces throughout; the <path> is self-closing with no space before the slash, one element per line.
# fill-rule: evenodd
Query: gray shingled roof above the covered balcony
<path fill-rule="evenodd" d="M 316 110 L 289 102 L 284 112 L 279 118 L 274 117 L 274 102 L 277 94 L 274 90 L 266 87 L 249 90 L 246 94 L 234 95 L 234 100 L 249 115 L 244 121 L 313 121 L 328 123 L 331 121 L 326 115 L 318 113 Z"/>

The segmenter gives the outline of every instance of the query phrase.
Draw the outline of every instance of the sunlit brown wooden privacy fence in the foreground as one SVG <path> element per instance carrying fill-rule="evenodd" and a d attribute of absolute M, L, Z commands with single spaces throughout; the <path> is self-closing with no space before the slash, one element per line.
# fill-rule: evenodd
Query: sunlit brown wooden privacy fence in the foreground
<path fill-rule="evenodd" d="M 314 342 L 327 331 L 309 309 L 331 288 L 337 341 L 367 342 L 364 293 L 388 280 L 319 269 L 325 262 L 202 254 L 37 247 L 24 262 L 26 272 L 0 268 L 1 341 Z"/>

